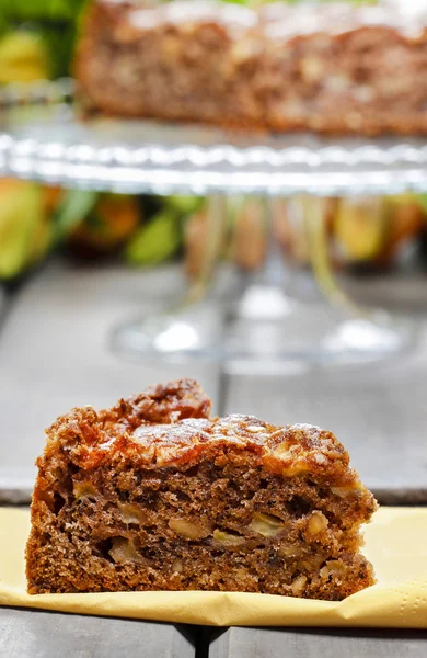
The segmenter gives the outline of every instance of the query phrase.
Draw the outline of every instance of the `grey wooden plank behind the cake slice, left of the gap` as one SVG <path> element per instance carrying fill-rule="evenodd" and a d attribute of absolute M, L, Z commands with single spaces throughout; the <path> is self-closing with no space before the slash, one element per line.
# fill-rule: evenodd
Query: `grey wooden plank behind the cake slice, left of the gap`
<path fill-rule="evenodd" d="M 218 398 L 218 368 L 128 362 L 113 354 L 112 330 L 176 302 L 184 279 L 176 268 L 132 271 L 53 262 L 22 291 L 0 332 L 0 499 L 25 501 L 34 481 L 44 429 L 71 407 L 114 404 L 171 378 L 191 376 Z"/>

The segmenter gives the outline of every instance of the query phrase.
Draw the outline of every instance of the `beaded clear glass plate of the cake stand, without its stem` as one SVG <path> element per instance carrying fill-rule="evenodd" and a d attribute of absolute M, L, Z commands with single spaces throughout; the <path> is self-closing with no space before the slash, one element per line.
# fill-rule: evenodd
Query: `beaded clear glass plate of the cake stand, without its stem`
<path fill-rule="evenodd" d="M 427 140 L 108 117 L 80 120 L 70 81 L 0 94 L 0 174 L 127 193 L 396 194 L 427 192 Z"/>

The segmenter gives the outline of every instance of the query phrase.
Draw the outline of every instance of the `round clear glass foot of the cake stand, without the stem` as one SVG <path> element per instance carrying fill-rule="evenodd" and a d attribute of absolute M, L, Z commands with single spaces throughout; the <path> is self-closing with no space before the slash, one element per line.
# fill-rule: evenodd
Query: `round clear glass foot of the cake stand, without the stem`
<path fill-rule="evenodd" d="M 416 339 L 416 322 L 407 318 L 379 310 L 357 314 L 325 300 L 302 304 L 280 288 L 253 285 L 232 305 L 210 299 L 122 325 L 113 349 L 131 359 L 207 359 L 226 368 L 279 374 L 291 363 L 373 363 L 409 350 Z"/>

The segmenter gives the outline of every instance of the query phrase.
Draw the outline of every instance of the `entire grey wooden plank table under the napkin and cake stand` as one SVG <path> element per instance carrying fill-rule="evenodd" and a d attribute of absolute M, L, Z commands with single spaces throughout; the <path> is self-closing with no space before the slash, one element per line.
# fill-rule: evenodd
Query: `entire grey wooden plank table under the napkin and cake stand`
<path fill-rule="evenodd" d="M 112 328 L 159 297 L 176 297 L 176 270 L 141 273 L 54 261 L 22 287 L 0 324 L 0 500 L 27 502 L 43 428 L 70 407 L 109 406 L 153 382 L 197 377 L 217 412 L 327 427 L 349 447 L 383 501 L 427 501 L 427 321 L 416 353 L 368 368 L 228 375 L 197 363 L 125 362 L 108 350 Z M 168 291 L 168 294 L 164 294 Z M 151 302 L 150 302 L 151 300 Z M 209 629 L 0 610 L 0 658 L 186 656 L 366 658 L 427 656 L 427 634 L 334 629 Z"/>

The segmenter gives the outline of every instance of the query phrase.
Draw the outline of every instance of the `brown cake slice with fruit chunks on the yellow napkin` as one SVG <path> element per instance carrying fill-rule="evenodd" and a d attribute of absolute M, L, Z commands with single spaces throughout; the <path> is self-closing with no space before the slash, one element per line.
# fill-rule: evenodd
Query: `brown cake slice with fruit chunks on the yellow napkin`
<path fill-rule="evenodd" d="M 209 410 L 183 379 L 51 426 L 26 547 L 31 593 L 339 600 L 374 582 L 359 529 L 377 503 L 335 436 Z"/>

